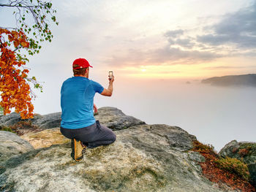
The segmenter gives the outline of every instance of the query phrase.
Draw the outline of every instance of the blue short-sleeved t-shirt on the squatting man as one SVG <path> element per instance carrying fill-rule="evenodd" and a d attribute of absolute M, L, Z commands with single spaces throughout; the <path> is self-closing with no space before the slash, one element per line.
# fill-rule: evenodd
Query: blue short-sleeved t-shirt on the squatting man
<path fill-rule="evenodd" d="M 94 95 L 104 88 L 86 77 L 70 77 L 61 86 L 61 127 L 83 128 L 91 126 L 94 119 Z"/>

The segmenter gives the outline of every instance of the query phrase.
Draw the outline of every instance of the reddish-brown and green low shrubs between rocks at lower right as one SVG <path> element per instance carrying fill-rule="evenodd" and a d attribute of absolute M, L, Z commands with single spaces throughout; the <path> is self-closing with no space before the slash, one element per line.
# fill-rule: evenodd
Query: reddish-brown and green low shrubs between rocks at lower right
<path fill-rule="evenodd" d="M 242 192 L 255 192 L 255 188 L 249 183 L 249 171 L 246 164 L 236 158 L 219 158 L 212 145 L 204 145 L 194 142 L 193 151 L 199 152 L 206 158 L 200 162 L 202 173 L 211 182 L 226 183 L 233 189 Z"/>

